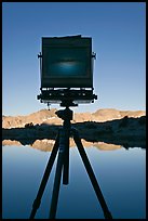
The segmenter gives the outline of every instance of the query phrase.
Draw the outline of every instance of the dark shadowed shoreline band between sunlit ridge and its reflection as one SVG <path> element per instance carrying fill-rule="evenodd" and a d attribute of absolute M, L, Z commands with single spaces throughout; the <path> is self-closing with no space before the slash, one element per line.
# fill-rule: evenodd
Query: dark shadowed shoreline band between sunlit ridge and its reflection
<path fill-rule="evenodd" d="M 78 129 L 80 138 L 89 142 L 111 143 L 126 148 L 146 147 L 146 116 L 124 117 L 106 122 L 84 121 L 72 126 Z M 59 126 L 42 123 L 26 128 L 2 129 L 2 140 L 15 140 L 23 145 L 33 145 L 36 140 L 55 140 L 58 128 Z"/>

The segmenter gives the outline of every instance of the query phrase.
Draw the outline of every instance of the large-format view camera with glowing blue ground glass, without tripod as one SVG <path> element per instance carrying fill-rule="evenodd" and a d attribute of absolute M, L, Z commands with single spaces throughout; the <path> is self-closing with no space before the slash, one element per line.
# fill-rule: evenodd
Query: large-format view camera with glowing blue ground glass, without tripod
<path fill-rule="evenodd" d="M 78 106 L 93 103 L 92 38 L 79 36 L 42 38 L 42 53 L 38 54 L 41 69 L 41 103 Z"/>

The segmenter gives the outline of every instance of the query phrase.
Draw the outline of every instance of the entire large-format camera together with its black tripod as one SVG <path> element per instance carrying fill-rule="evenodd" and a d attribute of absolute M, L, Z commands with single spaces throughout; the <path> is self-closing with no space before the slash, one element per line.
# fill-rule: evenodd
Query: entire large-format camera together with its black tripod
<path fill-rule="evenodd" d="M 41 197 L 58 152 L 49 214 L 49 219 L 55 219 L 62 174 L 63 184 L 67 185 L 69 183 L 69 138 L 71 135 L 100 203 L 104 216 L 106 219 L 112 219 L 79 132 L 70 123 L 72 110 L 69 109 L 69 106 L 78 106 L 78 103 L 91 103 L 97 99 L 97 95 L 93 94 L 93 60 L 96 54 L 92 53 L 92 39 L 82 38 L 81 36 L 42 38 L 42 54 L 40 53 L 38 57 L 41 67 L 41 94 L 38 95 L 38 100 L 48 103 L 48 105 L 50 103 L 60 103 L 60 106 L 66 108 L 55 113 L 64 122 L 58 130 L 37 197 L 33 200 L 30 219 L 35 218 L 40 206 Z"/>

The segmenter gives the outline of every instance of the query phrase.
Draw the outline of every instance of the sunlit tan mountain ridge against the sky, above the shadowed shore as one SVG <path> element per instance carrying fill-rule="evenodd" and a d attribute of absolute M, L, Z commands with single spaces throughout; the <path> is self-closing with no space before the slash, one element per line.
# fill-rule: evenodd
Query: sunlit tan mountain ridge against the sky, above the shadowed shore
<path fill-rule="evenodd" d="M 27 123 L 32 125 L 62 125 L 63 120 L 55 114 L 57 109 L 40 109 L 26 116 L 2 116 L 2 128 L 11 129 L 17 127 L 25 127 Z M 113 119 L 121 119 L 127 117 L 146 116 L 145 110 L 119 110 L 116 108 L 102 108 L 94 113 L 73 113 L 73 120 L 71 122 L 96 121 L 104 122 Z"/>

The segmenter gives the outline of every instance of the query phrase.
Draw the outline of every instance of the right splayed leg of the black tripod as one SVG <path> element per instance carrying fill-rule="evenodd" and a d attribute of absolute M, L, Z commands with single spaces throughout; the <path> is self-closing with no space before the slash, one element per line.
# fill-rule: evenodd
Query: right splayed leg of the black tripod
<path fill-rule="evenodd" d="M 97 196 L 97 198 L 98 198 L 98 200 L 100 203 L 100 206 L 102 206 L 103 211 L 104 211 L 104 216 L 105 216 L 106 219 L 112 219 L 112 216 L 111 216 L 110 211 L 108 210 L 107 204 L 106 204 L 106 202 L 104 199 L 100 187 L 99 187 L 99 185 L 97 183 L 97 180 L 95 178 L 95 174 L 93 172 L 91 164 L 89 161 L 89 158 L 88 158 L 86 153 L 84 151 L 84 147 L 82 145 L 82 142 L 81 142 L 81 140 L 79 138 L 79 134 L 78 134 L 78 132 L 76 130 L 73 130 L 73 140 L 75 140 L 75 142 L 76 142 L 76 144 L 78 146 L 79 153 L 81 155 L 81 158 L 83 160 L 83 164 L 85 166 L 88 174 L 89 174 L 89 177 L 91 179 L 91 182 L 92 182 L 92 185 L 93 185 L 94 191 L 96 193 L 96 196 Z"/>

